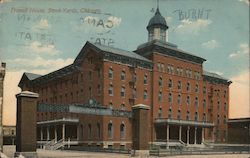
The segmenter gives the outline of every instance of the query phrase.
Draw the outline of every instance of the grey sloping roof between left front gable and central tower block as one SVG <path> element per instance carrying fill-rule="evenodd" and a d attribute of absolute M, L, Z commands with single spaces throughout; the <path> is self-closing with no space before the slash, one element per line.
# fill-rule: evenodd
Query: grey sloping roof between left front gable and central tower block
<path fill-rule="evenodd" d="M 122 50 L 122 49 L 114 48 L 114 47 L 110 47 L 110 46 L 100 45 L 100 44 L 93 44 L 93 43 L 91 43 L 91 44 L 96 46 L 97 48 L 99 48 L 100 50 L 102 50 L 104 52 L 109 52 L 109 53 L 113 53 L 113 54 L 117 54 L 117 55 L 126 56 L 129 58 L 134 58 L 134 59 L 138 59 L 138 60 L 151 62 L 150 60 L 148 60 L 148 59 L 144 58 L 143 56 L 140 56 L 134 52 L 130 52 L 130 51 L 126 51 L 126 50 Z"/>

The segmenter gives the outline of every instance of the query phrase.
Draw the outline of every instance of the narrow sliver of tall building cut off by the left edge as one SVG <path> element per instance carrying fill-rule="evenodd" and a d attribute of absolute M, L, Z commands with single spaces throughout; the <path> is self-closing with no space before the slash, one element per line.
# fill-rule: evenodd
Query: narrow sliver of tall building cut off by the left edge
<path fill-rule="evenodd" d="M 6 64 L 0 61 L 0 152 L 3 151 L 3 82 Z"/>

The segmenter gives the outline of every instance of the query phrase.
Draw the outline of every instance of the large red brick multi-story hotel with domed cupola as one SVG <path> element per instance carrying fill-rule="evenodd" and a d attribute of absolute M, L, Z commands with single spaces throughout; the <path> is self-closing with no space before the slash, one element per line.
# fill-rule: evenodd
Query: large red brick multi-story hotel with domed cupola
<path fill-rule="evenodd" d="M 40 95 L 39 143 L 131 148 L 135 105 L 149 106 L 149 145 L 226 141 L 231 81 L 166 41 L 167 29 L 157 9 L 148 42 L 133 52 L 86 42 L 73 64 L 43 76 L 24 73 L 19 87 Z"/>

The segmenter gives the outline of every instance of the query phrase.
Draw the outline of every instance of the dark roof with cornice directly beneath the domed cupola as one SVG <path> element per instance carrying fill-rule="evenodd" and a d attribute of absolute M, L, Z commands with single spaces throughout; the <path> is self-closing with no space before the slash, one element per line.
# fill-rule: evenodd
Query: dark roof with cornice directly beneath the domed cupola
<path fill-rule="evenodd" d="M 154 53 L 154 51 L 165 54 L 168 56 L 176 57 L 179 59 L 184 59 L 187 61 L 195 62 L 202 64 L 206 59 L 201 58 L 199 56 L 196 56 L 194 54 L 185 52 L 181 49 L 177 48 L 177 45 L 169 43 L 169 42 L 163 42 L 160 40 L 153 40 L 144 44 L 141 44 L 138 46 L 137 50 L 135 50 L 136 53 L 147 56 L 151 53 Z"/>

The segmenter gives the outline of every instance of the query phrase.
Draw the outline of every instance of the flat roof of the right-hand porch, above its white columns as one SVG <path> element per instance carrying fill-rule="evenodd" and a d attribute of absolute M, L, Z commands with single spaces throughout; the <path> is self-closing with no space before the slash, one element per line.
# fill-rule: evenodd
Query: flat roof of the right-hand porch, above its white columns
<path fill-rule="evenodd" d="M 155 124 L 214 127 L 214 123 L 211 123 L 211 122 L 192 121 L 192 120 L 176 120 L 176 119 L 169 119 L 169 118 L 156 118 Z"/>

